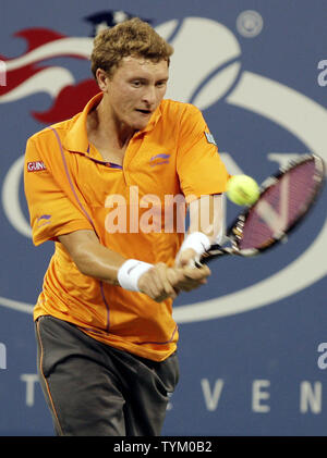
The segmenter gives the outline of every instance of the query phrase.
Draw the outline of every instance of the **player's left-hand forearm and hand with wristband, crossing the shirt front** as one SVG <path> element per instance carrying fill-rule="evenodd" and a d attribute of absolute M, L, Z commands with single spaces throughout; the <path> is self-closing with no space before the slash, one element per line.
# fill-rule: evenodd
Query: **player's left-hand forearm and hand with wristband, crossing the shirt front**
<path fill-rule="evenodd" d="M 198 270 L 190 285 L 187 270 L 126 259 L 102 246 L 90 230 L 60 235 L 58 239 L 84 275 L 144 293 L 158 302 L 168 297 L 174 299 L 179 290 L 191 290 L 199 286 L 205 276 L 204 271 Z"/>

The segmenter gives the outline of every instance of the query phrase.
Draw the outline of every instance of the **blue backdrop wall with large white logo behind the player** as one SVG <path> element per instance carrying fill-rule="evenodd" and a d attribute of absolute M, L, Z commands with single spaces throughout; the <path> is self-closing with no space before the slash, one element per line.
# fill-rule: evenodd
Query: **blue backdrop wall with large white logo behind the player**
<path fill-rule="evenodd" d="M 203 110 L 231 173 L 262 182 L 294 156 L 327 159 L 325 63 L 318 69 L 327 59 L 326 1 L 2 1 L 0 435 L 52 434 L 36 377 L 32 309 L 53 247 L 31 240 L 25 141 L 80 109 L 83 87 L 94 92 L 86 17 L 116 12 L 119 20 L 122 11 L 150 20 L 172 42 L 167 97 Z M 75 55 L 49 30 L 76 39 Z M 324 345 L 318 350 L 327 342 L 326 200 L 325 191 L 287 245 L 215 261 L 208 285 L 178 298 L 181 380 L 164 434 L 326 434 L 327 358 Z M 237 212 L 228 202 L 227 220 Z"/>

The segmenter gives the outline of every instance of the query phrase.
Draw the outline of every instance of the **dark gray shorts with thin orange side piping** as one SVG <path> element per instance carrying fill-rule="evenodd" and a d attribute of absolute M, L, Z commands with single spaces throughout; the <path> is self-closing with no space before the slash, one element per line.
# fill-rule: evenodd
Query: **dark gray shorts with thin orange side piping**
<path fill-rule="evenodd" d="M 158 436 L 179 379 L 162 362 L 105 345 L 53 317 L 36 321 L 37 366 L 57 435 Z"/>

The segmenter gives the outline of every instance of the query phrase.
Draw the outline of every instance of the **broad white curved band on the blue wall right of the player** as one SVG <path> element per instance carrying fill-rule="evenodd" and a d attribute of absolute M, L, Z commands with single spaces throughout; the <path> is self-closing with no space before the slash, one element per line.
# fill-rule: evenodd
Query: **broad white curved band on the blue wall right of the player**
<path fill-rule="evenodd" d="M 324 134 L 327 110 L 310 98 L 272 79 L 243 72 L 227 102 L 281 125 L 327 162 Z M 173 317 L 180 323 L 209 320 L 267 306 L 290 296 L 326 275 L 326 246 L 327 222 L 304 253 L 282 271 L 238 293 L 177 307 Z"/>

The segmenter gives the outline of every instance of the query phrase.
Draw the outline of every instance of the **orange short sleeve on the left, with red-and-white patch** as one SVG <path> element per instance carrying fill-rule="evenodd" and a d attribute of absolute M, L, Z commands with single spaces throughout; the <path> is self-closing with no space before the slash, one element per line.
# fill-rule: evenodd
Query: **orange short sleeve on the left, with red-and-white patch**
<path fill-rule="evenodd" d="M 60 180 L 51 173 L 51 164 L 29 138 L 24 163 L 24 188 L 32 226 L 33 243 L 57 240 L 59 235 L 78 230 L 93 230 L 78 206 L 64 191 Z"/>

